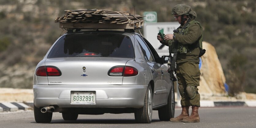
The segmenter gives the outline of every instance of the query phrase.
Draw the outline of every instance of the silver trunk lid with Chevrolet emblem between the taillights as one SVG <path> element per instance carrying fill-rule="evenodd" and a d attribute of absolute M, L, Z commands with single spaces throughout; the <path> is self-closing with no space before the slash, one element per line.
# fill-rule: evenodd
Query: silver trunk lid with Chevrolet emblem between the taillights
<path fill-rule="evenodd" d="M 125 66 L 131 58 L 70 57 L 48 58 L 45 66 L 55 66 L 59 77 L 48 77 L 49 85 L 121 85 L 122 76 L 110 77 L 113 66 Z"/>

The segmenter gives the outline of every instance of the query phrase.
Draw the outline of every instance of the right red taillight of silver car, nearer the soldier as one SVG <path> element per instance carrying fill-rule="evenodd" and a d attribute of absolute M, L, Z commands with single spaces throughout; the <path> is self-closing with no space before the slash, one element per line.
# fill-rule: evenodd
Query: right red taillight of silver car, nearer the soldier
<path fill-rule="evenodd" d="M 109 70 L 108 75 L 132 77 L 138 75 L 138 70 L 130 66 L 114 66 Z"/>

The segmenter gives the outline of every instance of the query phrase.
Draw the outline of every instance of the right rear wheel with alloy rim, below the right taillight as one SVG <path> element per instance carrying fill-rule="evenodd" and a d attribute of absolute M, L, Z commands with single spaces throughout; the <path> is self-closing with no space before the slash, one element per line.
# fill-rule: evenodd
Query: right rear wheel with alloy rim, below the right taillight
<path fill-rule="evenodd" d="M 138 123 L 151 123 L 152 120 L 152 89 L 151 85 L 148 85 L 147 92 L 144 100 L 144 106 L 136 109 L 134 116 Z"/>

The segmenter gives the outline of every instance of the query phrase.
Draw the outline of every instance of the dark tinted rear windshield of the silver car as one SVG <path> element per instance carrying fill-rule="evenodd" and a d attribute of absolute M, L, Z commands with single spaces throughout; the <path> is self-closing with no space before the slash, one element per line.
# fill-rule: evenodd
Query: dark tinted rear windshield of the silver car
<path fill-rule="evenodd" d="M 134 49 L 130 37 L 121 34 L 72 34 L 59 39 L 48 55 L 59 57 L 134 58 Z"/>

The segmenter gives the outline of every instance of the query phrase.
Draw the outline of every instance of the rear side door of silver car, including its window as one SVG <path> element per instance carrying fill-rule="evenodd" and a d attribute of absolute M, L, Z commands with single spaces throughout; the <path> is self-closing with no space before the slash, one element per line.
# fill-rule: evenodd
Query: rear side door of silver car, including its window
<path fill-rule="evenodd" d="M 135 36 L 136 40 L 139 42 L 139 45 L 142 49 L 142 52 L 144 54 L 144 57 L 147 61 L 147 64 L 151 70 L 152 78 L 154 80 L 154 91 L 153 93 L 153 101 L 152 106 L 158 106 L 161 104 L 164 104 L 163 101 L 165 98 L 163 98 L 162 90 L 165 89 L 162 87 L 162 73 L 159 63 L 155 61 L 154 56 L 152 55 L 151 50 L 149 49 L 147 43 L 143 40 L 143 38 L 139 35 Z"/>

